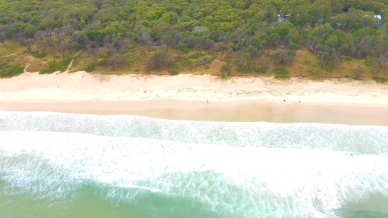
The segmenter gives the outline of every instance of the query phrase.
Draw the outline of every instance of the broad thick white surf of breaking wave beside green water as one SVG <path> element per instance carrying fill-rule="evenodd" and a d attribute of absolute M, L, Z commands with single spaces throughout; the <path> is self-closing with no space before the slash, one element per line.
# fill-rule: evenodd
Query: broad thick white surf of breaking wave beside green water
<path fill-rule="evenodd" d="M 388 196 L 384 156 L 79 133 L 1 131 L 0 138 L 0 175 L 11 190 L 8 194 L 26 191 L 35 198 L 68 198 L 92 181 L 189 196 L 199 199 L 202 207 L 231 214 L 236 205 L 265 208 L 246 206 L 250 217 L 274 211 L 334 216 L 346 202 L 375 193 Z M 113 188 L 108 197 L 134 201 L 139 193 Z"/>

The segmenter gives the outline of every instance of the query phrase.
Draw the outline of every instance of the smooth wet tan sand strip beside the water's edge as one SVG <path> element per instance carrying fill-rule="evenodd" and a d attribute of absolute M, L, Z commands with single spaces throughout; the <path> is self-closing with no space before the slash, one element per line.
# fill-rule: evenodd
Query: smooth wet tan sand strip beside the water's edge
<path fill-rule="evenodd" d="M 272 123 L 331 123 L 388 126 L 388 107 L 327 102 L 199 102 L 181 100 L 116 102 L 0 102 L 4 111 L 43 111 L 71 114 L 136 115 L 156 119 Z"/>

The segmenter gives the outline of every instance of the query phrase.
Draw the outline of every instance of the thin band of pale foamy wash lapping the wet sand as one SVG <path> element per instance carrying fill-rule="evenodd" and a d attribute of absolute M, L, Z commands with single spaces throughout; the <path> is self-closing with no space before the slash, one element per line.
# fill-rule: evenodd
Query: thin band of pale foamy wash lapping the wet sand
<path fill-rule="evenodd" d="M 51 131 L 153 138 L 189 144 L 320 149 L 388 155 L 387 126 L 320 123 L 169 121 L 143 116 L 99 116 L 0 111 L 0 131 Z"/>

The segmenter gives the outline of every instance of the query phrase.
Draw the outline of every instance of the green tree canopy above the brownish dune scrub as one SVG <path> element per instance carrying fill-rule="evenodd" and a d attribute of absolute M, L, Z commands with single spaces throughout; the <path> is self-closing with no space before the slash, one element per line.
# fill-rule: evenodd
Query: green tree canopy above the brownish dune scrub
<path fill-rule="evenodd" d="M 170 48 L 219 52 L 240 68 L 263 54 L 291 63 L 303 48 L 321 67 L 336 66 L 341 56 L 371 56 L 384 65 L 388 35 L 377 30 L 387 16 L 388 0 L 0 0 L 0 42 L 63 57 L 85 49 L 96 59 L 102 52 L 107 57 L 99 61 L 112 68 L 125 63 L 128 42 L 163 47 L 147 61 L 149 70 L 164 63 Z"/>

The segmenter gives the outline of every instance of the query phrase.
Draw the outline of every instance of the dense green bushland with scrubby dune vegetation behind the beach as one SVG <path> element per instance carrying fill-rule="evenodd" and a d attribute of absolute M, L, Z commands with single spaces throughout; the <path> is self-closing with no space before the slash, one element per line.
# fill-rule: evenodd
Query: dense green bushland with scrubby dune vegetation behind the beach
<path fill-rule="evenodd" d="M 0 0 L 0 76 L 73 61 L 97 73 L 385 81 L 387 20 L 388 0 Z"/>

